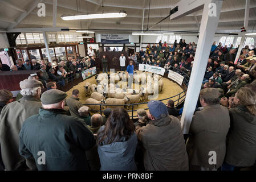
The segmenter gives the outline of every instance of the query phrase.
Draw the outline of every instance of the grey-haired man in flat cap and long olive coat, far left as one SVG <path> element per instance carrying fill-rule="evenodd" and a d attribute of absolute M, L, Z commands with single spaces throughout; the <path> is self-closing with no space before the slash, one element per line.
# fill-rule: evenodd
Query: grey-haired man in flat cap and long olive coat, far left
<path fill-rule="evenodd" d="M 26 160 L 19 155 L 19 131 L 22 123 L 31 115 L 38 114 L 42 82 L 23 80 L 19 82 L 22 98 L 3 107 L 0 115 L 0 144 L 6 170 L 25 170 Z"/>

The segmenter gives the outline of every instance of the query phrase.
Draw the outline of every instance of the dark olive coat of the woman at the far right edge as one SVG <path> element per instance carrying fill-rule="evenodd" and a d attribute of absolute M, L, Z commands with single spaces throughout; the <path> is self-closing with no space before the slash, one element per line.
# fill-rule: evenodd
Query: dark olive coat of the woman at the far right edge
<path fill-rule="evenodd" d="M 232 166 L 253 166 L 256 160 L 256 116 L 242 105 L 229 109 L 225 162 Z"/>

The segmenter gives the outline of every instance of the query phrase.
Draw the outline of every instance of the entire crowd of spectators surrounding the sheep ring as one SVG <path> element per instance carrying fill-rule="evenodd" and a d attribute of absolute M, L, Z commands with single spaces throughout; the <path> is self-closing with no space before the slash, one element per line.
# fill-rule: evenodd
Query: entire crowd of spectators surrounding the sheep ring
<path fill-rule="evenodd" d="M 149 59 L 152 63 L 152 51 L 158 52 L 156 57 L 167 58 L 164 63 L 170 65 L 177 61 L 175 64 L 184 71 L 187 67 L 180 67 L 180 64 L 193 64 L 196 51 L 194 43 L 186 47 L 185 40 L 170 47 L 160 42 L 157 46 L 148 45 L 144 56 L 151 56 L 138 59 L 139 54 L 135 60 L 132 55 L 131 59 L 135 63 Z M 174 54 L 172 50 L 162 51 L 170 49 Z M 176 109 L 172 100 L 166 105 L 161 101 L 149 101 L 148 110 L 138 109 L 138 119 L 132 121 L 122 107 L 107 108 L 102 115 L 93 114 L 79 101 L 79 90 L 72 90 L 72 96 L 67 98 L 67 94 L 56 89 L 56 83 L 52 81 L 47 83 L 48 90 L 42 93 L 42 77 L 54 75 L 54 68 L 42 61 L 40 77 L 30 76 L 20 82 L 22 97 L 17 101 L 13 101 L 9 90 L 0 90 L 1 169 L 255 169 L 255 55 L 254 50 L 244 48 L 239 59 L 233 60 L 236 50 L 213 44 L 188 139 L 184 139 L 177 118 L 182 109 Z M 17 67 L 21 68 L 24 64 L 19 62 Z M 85 66 L 81 70 L 93 65 L 88 64 L 90 58 L 83 58 L 82 63 Z M 77 61 L 72 61 L 71 57 L 66 64 L 61 64 L 58 75 L 61 73 L 64 77 L 78 71 Z M 1 68 L 5 67 L 1 65 Z M 127 72 L 130 67 L 133 72 L 132 61 Z"/>

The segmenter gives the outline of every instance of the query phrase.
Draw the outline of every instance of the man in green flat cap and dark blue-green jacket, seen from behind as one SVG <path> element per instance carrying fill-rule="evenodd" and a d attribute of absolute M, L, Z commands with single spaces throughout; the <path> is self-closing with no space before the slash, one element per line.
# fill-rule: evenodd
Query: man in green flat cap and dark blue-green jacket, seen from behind
<path fill-rule="evenodd" d="M 26 119 L 19 133 L 19 154 L 34 157 L 38 170 L 88 170 L 86 151 L 95 145 L 94 135 L 78 117 L 65 115 L 67 94 L 47 90 L 39 114 Z M 44 163 L 39 151 L 44 152 Z"/>

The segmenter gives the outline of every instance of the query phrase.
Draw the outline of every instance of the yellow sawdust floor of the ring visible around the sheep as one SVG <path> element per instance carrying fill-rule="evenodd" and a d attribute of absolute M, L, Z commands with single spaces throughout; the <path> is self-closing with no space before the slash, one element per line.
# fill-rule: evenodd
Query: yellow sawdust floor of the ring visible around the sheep
<path fill-rule="evenodd" d="M 159 93 L 157 100 L 162 100 L 164 98 L 176 96 L 177 94 L 183 92 L 183 89 L 181 88 L 181 86 L 176 84 L 176 82 L 173 82 L 173 81 L 169 80 L 168 78 L 163 78 L 163 81 L 164 81 L 164 89 L 162 90 L 162 92 Z M 95 76 L 92 76 L 91 78 L 87 78 L 87 80 L 80 82 L 78 85 L 75 85 L 72 89 L 68 90 L 68 92 L 66 92 L 68 97 L 70 97 L 72 95 L 72 90 L 78 89 L 80 92 L 80 94 L 79 94 L 80 101 L 84 104 L 85 101 L 87 100 L 87 98 L 90 98 L 90 97 L 86 97 L 86 94 L 84 92 L 85 82 L 91 82 L 91 84 L 97 85 Z M 185 93 L 182 93 L 180 97 L 184 96 L 184 94 Z M 184 97 L 182 99 L 184 99 Z M 173 101 L 178 100 L 178 96 L 173 97 L 172 100 Z M 164 102 L 164 104 L 166 104 L 167 101 L 168 100 L 165 100 L 162 102 Z M 177 102 L 178 101 L 176 101 L 175 104 L 177 104 Z M 141 108 L 143 108 L 143 109 L 147 108 L 147 104 L 141 104 L 138 106 L 134 106 L 134 110 L 141 109 Z M 132 106 L 129 107 L 128 110 L 132 110 Z M 129 113 L 129 115 L 132 115 L 132 112 L 128 112 L 128 113 Z M 136 111 L 133 113 L 133 115 L 136 115 Z"/>

